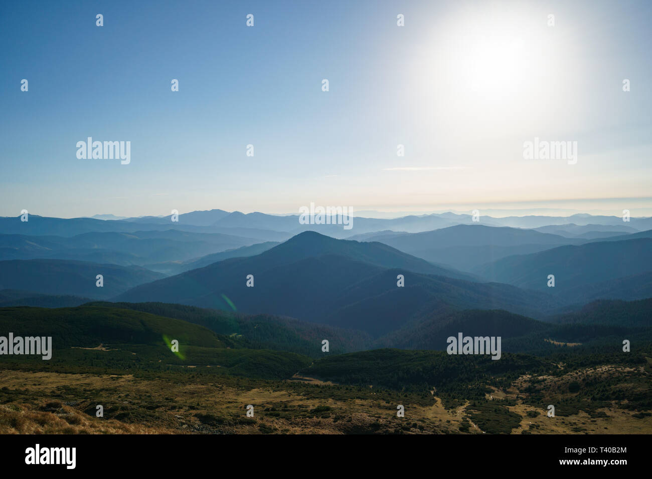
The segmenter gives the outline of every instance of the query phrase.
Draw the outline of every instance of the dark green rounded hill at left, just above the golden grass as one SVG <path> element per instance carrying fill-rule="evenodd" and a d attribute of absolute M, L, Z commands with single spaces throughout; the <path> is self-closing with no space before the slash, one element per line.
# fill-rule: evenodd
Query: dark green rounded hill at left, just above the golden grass
<path fill-rule="evenodd" d="M 5 368 L 124 373 L 201 368 L 218 375 L 286 379 L 312 360 L 285 351 L 244 349 L 228 336 L 179 319 L 119 308 L 0 308 L 0 336 L 52 336 L 52 359 L 3 356 Z M 173 353 L 170 341 L 179 341 Z"/>

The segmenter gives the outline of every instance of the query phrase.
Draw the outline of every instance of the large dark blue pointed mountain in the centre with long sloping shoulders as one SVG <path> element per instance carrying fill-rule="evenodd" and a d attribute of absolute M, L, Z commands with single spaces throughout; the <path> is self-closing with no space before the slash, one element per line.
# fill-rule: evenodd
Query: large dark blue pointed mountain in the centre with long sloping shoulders
<path fill-rule="evenodd" d="M 247 276 L 254 287 L 247 287 Z M 405 286 L 397 287 L 403 274 Z M 301 233 L 262 254 L 233 258 L 135 287 L 120 302 L 175 302 L 286 315 L 383 334 L 433 310 L 550 308 L 548 295 L 474 283 L 381 243 Z"/>

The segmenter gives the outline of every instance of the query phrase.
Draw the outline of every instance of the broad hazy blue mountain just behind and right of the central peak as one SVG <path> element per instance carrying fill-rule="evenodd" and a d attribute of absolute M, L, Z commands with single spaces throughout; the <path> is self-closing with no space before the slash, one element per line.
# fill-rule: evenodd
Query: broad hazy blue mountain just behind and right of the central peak
<path fill-rule="evenodd" d="M 455 225 L 422 233 L 379 235 L 368 240 L 383 242 L 432 263 L 466 271 L 513 254 L 534 253 L 560 244 L 584 242 L 533 229 L 481 224 Z"/>

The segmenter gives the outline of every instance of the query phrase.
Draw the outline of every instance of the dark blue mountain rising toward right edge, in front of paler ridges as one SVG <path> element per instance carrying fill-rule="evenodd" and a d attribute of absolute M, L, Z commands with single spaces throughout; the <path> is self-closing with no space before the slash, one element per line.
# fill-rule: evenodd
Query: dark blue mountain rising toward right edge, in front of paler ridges
<path fill-rule="evenodd" d="M 593 286 L 652 270 L 652 239 L 589 242 L 498 259 L 475 269 L 484 278 L 571 299 Z M 548 287 L 548 275 L 555 287 Z M 572 295 L 571 295 L 572 293 Z"/>

